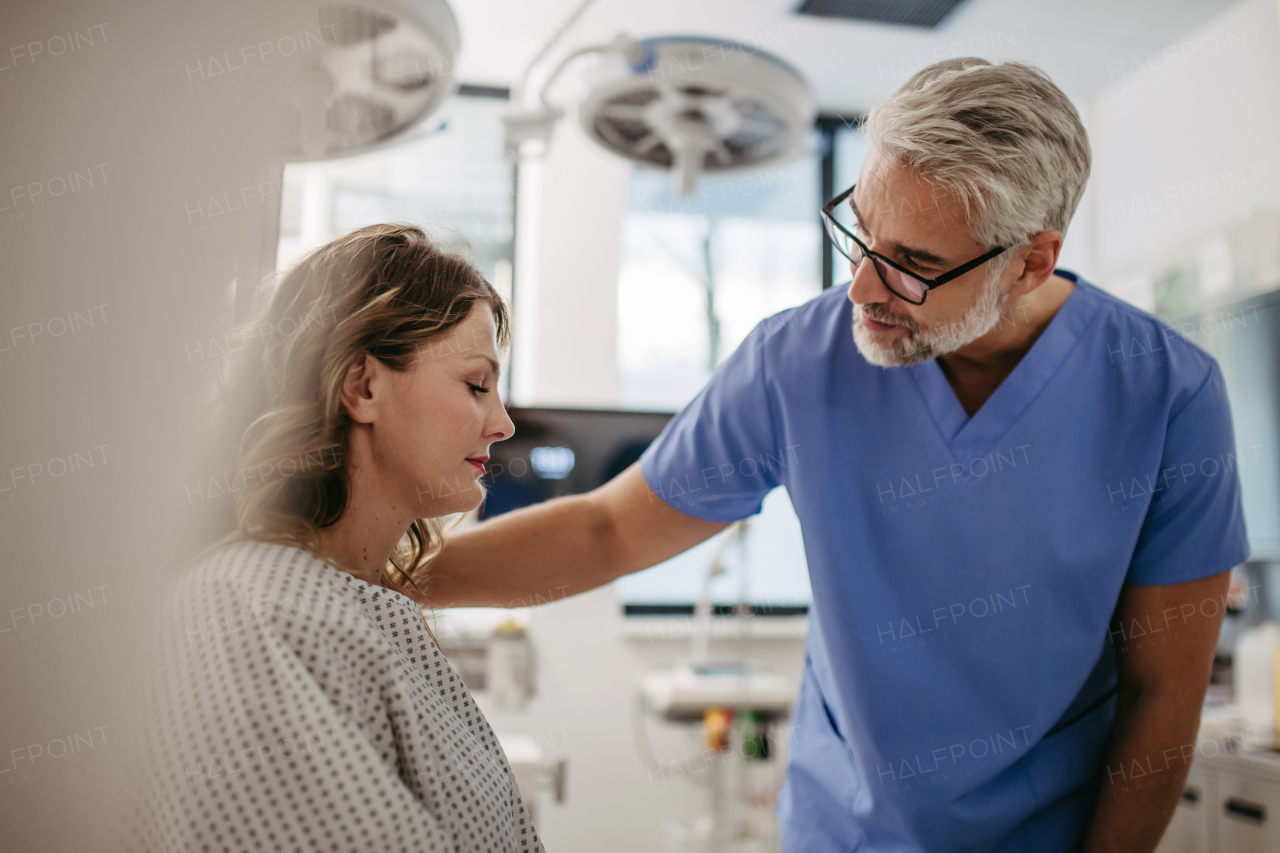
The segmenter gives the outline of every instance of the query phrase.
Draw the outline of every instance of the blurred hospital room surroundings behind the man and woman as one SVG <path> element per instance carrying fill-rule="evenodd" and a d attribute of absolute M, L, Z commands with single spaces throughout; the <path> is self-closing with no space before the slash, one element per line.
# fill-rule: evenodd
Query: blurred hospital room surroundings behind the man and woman
<path fill-rule="evenodd" d="M 1089 131 L 1060 266 L 1224 368 L 1253 558 L 1162 849 L 1280 850 L 1280 765 L 1239 734 L 1275 740 L 1277 0 L 52 0 L 0 38 L 0 848 L 115 844 L 157 596 L 233 500 L 193 437 L 264 277 L 396 220 L 502 289 L 517 434 L 483 524 L 605 482 L 847 280 L 818 207 L 860 117 L 977 55 L 1043 68 Z M 548 849 L 772 850 L 809 602 L 777 491 L 609 587 L 433 624 Z"/>

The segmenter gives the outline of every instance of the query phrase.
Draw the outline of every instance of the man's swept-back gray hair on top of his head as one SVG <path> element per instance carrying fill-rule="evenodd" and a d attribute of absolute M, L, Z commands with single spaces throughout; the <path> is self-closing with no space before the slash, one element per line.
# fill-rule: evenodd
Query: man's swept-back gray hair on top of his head
<path fill-rule="evenodd" d="M 963 56 L 916 72 L 867 115 L 872 150 L 956 195 L 974 240 L 1066 233 L 1089 177 L 1075 106 L 1041 69 Z"/>

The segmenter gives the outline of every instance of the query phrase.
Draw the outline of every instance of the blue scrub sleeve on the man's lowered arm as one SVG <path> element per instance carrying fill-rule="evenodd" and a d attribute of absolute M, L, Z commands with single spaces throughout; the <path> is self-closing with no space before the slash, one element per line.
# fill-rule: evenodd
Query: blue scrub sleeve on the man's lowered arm
<path fill-rule="evenodd" d="M 1249 556 L 1226 386 L 1216 364 L 1175 410 L 1165 434 L 1160 488 L 1143 523 L 1126 581 L 1178 584 L 1208 578 Z"/>

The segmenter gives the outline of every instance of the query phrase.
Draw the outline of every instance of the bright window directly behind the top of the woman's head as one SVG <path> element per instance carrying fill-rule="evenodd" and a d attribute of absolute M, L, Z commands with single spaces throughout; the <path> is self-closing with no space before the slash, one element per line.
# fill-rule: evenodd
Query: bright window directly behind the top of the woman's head
<path fill-rule="evenodd" d="M 435 132 L 369 154 L 287 165 L 276 269 L 356 228 L 408 222 L 466 254 L 509 301 L 515 169 L 502 154 L 504 105 L 502 97 L 462 93 L 428 119 Z"/>

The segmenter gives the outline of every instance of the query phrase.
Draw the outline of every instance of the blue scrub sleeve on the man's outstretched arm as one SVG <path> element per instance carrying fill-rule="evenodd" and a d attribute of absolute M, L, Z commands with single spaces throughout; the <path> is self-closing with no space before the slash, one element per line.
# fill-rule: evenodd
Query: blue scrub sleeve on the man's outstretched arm
<path fill-rule="evenodd" d="M 776 437 L 764 320 L 719 366 L 640 457 L 649 488 L 669 506 L 707 521 L 737 521 L 760 511 L 795 448 Z"/>

